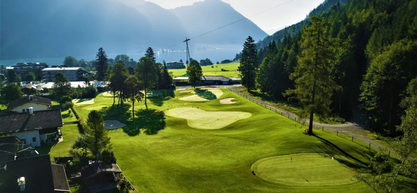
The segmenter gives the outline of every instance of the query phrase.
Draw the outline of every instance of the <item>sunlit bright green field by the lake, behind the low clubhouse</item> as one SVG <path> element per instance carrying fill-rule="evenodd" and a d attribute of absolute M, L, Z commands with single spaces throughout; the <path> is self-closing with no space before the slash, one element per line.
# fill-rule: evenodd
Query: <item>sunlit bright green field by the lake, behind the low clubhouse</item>
<path fill-rule="evenodd" d="M 229 64 L 213 64 L 212 66 L 201 67 L 204 76 L 224 76 L 234 78 L 239 77 L 239 71 L 237 71 L 237 67 L 240 66 L 239 62 L 233 62 Z M 221 69 L 228 71 L 222 72 Z M 183 74 L 187 73 L 186 69 L 170 69 L 168 71 L 172 72 L 174 76 L 182 76 Z"/>

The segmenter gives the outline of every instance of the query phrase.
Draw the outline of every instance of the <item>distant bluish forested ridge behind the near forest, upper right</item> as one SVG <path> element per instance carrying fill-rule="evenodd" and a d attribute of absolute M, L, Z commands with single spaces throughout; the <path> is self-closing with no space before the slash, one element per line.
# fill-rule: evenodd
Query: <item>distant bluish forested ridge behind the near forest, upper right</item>
<path fill-rule="evenodd" d="M 269 45 L 269 43 L 271 43 L 272 41 L 281 40 L 284 37 L 285 33 L 288 34 L 288 35 L 294 35 L 294 34 L 298 33 L 301 29 L 303 29 L 303 26 L 307 22 L 309 22 L 309 16 L 320 15 L 322 12 L 329 11 L 330 7 L 332 7 L 333 5 L 336 5 L 337 3 L 344 4 L 346 2 L 347 2 L 347 0 L 325 0 L 322 4 L 320 4 L 319 6 L 314 8 L 314 10 L 311 10 L 304 20 L 302 20 L 302 21 L 300 21 L 300 22 L 298 22 L 294 25 L 290 25 L 288 27 L 285 27 L 284 29 L 275 32 L 273 35 L 269 35 L 268 37 L 265 37 L 262 41 L 259 41 L 256 44 L 256 46 L 257 46 L 256 48 L 259 50 L 261 56 L 263 56 L 263 54 L 265 54 L 265 52 L 263 50 L 261 50 L 261 48 L 267 47 Z"/>

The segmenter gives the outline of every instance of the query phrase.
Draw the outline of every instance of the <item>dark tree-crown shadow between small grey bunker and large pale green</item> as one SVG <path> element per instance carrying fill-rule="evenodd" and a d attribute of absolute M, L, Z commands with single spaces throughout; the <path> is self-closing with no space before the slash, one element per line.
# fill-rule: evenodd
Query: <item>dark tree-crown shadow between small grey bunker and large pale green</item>
<path fill-rule="evenodd" d="M 165 119 L 163 111 L 141 109 L 136 111 L 133 124 L 123 127 L 123 132 L 129 136 L 136 136 L 143 129 L 144 134 L 155 135 L 165 127 Z"/>

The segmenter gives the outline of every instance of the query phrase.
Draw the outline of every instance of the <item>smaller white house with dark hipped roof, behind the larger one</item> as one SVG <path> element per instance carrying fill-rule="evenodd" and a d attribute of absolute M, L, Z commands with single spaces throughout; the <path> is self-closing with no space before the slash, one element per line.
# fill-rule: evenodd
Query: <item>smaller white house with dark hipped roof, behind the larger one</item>
<path fill-rule="evenodd" d="M 29 112 L 30 107 L 33 108 L 33 111 L 43 111 L 47 110 L 50 106 L 52 106 L 50 99 L 23 95 L 23 98 L 9 102 L 7 110 L 24 113 Z"/>

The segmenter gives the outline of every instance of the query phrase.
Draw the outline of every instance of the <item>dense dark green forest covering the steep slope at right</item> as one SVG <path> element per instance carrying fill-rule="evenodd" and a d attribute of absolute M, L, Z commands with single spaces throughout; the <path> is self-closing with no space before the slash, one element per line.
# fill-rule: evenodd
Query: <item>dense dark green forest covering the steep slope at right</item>
<path fill-rule="evenodd" d="M 332 51 L 326 70 L 341 87 L 331 93 L 333 114 L 347 120 L 362 116 L 374 131 L 396 135 L 406 107 L 401 101 L 417 77 L 416 10 L 417 0 L 349 0 L 322 13 L 327 26 L 323 35 Z M 303 55 L 309 25 L 285 33 L 258 53 L 257 89 L 288 99 L 282 93 L 295 87 L 290 77 Z"/>

